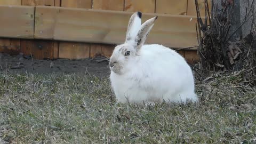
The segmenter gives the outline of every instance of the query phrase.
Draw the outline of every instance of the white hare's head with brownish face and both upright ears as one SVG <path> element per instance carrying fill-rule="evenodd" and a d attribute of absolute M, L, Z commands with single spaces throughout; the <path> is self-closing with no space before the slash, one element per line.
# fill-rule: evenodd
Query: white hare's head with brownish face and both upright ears
<path fill-rule="evenodd" d="M 111 55 L 109 62 L 111 71 L 121 75 L 132 69 L 139 60 L 140 49 L 156 19 L 157 17 L 151 18 L 141 25 L 141 12 L 136 12 L 131 16 L 125 43 L 117 45 Z"/>

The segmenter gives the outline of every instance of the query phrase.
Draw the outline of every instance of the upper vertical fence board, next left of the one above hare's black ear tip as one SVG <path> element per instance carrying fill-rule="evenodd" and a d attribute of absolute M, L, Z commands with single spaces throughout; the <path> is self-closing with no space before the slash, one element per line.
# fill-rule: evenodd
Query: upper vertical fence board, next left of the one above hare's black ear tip
<path fill-rule="evenodd" d="M 93 0 L 93 9 L 124 11 L 123 0 Z"/>

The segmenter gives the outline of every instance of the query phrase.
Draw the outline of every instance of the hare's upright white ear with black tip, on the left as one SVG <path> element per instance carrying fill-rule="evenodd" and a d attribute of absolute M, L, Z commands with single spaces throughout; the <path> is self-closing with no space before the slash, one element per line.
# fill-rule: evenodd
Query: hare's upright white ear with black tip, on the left
<path fill-rule="evenodd" d="M 126 32 L 126 39 L 125 39 L 126 43 L 129 43 L 129 42 L 134 43 L 135 37 L 137 36 L 138 31 L 140 30 L 140 26 L 141 26 L 141 12 L 135 12 L 132 14 L 129 20 L 129 24 Z"/>

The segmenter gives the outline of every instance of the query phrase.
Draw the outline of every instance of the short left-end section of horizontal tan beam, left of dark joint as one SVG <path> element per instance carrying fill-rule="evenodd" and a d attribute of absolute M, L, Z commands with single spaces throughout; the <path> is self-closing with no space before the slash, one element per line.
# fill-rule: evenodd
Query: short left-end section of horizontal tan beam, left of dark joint
<path fill-rule="evenodd" d="M 15 5 L 10 7 L 8 5 L 1 5 L 0 37 L 33 38 L 34 13 L 35 8 L 33 6 Z"/>

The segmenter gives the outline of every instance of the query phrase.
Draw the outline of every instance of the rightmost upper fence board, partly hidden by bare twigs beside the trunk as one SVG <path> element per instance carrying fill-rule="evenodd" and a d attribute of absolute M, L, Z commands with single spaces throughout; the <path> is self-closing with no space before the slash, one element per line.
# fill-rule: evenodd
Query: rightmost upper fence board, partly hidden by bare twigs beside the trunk
<path fill-rule="evenodd" d="M 208 1 L 210 12 L 211 12 L 211 1 Z M 205 7 L 204 7 L 204 0 L 198 0 L 198 7 L 200 11 L 201 17 L 205 16 Z M 195 0 L 188 0 L 188 15 L 195 15 L 196 16 L 196 5 Z"/>

